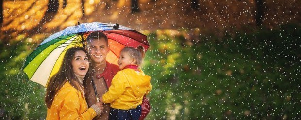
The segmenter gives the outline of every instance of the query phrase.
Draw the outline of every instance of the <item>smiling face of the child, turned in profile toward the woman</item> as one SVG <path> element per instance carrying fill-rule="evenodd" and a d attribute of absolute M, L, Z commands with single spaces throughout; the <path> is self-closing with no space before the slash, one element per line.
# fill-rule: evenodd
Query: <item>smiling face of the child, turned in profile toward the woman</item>
<path fill-rule="evenodd" d="M 122 70 L 125 66 L 134 64 L 135 59 L 133 59 L 129 52 L 121 52 L 118 60 L 119 69 Z"/>

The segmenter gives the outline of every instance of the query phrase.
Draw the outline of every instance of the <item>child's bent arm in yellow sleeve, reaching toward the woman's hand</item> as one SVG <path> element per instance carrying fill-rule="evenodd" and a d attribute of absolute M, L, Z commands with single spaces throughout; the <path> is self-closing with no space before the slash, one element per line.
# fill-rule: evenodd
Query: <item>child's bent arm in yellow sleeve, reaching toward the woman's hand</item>
<path fill-rule="evenodd" d="M 103 103 L 111 103 L 125 91 L 128 83 L 126 81 L 125 75 L 123 72 L 118 72 L 112 79 L 112 84 L 109 88 L 109 91 L 102 95 L 100 101 Z"/>

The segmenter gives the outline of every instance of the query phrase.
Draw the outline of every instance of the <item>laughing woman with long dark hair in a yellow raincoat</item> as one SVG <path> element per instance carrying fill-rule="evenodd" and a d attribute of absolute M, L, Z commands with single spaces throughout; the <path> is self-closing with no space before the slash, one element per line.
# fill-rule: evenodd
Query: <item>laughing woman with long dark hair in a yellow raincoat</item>
<path fill-rule="evenodd" d="M 82 47 L 67 50 L 59 72 L 46 89 L 46 120 L 92 120 L 103 110 L 101 103 L 88 108 L 83 81 L 90 75 L 87 52 Z"/>

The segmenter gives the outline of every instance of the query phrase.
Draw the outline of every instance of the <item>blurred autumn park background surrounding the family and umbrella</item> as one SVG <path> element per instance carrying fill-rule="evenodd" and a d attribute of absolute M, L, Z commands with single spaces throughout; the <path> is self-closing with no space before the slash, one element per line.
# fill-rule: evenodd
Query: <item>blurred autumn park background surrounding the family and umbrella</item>
<path fill-rule="evenodd" d="M 44 120 L 45 88 L 20 71 L 78 22 L 148 36 L 147 120 L 299 120 L 301 0 L 0 0 L 0 119 Z"/>

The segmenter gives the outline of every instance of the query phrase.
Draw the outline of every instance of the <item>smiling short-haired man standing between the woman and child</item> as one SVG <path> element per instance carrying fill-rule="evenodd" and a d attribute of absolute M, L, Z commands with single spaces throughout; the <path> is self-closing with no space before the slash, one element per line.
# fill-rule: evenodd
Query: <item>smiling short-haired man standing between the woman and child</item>
<path fill-rule="evenodd" d="M 93 80 L 90 79 L 86 81 L 85 84 L 86 101 L 89 106 L 96 103 L 94 87 L 96 88 L 96 92 L 100 98 L 108 91 L 114 75 L 116 75 L 119 71 L 119 67 L 117 65 L 106 61 L 106 56 L 109 53 L 109 47 L 108 38 L 102 32 L 92 32 L 87 37 L 87 51 L 90 55 L 93 70 Z M 95 86 L 93 86 L 93 81 Z M 103 106 L 103 113 L 100 116 L 95 117 L 95 120 L 108 120 L 110 105 L 104 104 Z M 142 111 L 139 120 L 143 120 L 151 109 L 146 97 L 143 98 L 141 107 Z"/>

